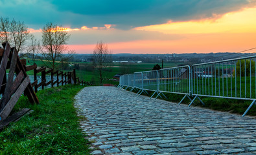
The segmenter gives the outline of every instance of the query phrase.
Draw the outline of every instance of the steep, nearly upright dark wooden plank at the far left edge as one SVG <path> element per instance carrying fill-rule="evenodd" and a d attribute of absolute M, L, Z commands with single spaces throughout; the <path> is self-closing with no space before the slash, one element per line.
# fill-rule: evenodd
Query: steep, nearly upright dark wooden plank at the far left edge
<path fill-rule="evenodd" d="M 10 54 L 10 45 L 8 43 L 6 43 L 6 45 L 3 44 L 3 47 L 5 47 L 5 52 L 3 53 L 3 57 L 1 60 L 1 64 L 0 64 L 0 89 L 1 89 L 1 86 L 3 83 L 6 65 L 7 65 L 9 54 Z"/>

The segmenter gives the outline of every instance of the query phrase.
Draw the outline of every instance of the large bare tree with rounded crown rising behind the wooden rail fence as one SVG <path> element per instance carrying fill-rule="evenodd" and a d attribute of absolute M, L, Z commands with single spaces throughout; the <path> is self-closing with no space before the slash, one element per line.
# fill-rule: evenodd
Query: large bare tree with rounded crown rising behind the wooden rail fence
<path fill-rule="evenodd" d="M 43 27 L 40 54 L 42 56 L 41 61 L 45 63 L 45 66 L 48 67 L 50 65 L 53 70 L 56 70 L 59 67 L 58 65 L 62 64 L 57 64 L 57 59 L 62 61 L 71 59 L 75 51 L 69 50 L 66 46 L 69 37 L 70 35 L 67 34 L 65 28 L 61 26 L 47 23 Z M 64 53 L 67 54 L 64 55 Z"/>

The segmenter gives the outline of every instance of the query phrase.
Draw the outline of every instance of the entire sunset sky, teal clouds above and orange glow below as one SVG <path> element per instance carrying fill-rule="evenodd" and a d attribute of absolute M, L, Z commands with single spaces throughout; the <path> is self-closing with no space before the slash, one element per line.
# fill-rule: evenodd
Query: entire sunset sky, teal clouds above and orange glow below
<path fill-rule="evenodd" d="M 0 0 L 0 17 L 23 21 L 38 39 L 49 22 L 67 28 L 78 54 L 91 54 L 98 41 L 113 54 L 256 47 L 256 0 Z"/>

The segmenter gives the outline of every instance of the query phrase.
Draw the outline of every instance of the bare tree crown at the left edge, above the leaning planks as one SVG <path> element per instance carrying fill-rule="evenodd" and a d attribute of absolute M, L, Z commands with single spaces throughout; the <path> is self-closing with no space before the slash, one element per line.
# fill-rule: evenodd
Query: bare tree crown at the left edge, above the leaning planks
<path fill-rule="evenodd" d="M 17 52 L 25 48 L 26 42 L 30 39 L 28 27 L 21 21 L 8 18 L 0 18 L 0 41 L 8 41 L 11 47 L 16 47 Z M 27 52 L 23 53 L 23 56 Z M 22 56 L 21 56 L 22 57 Z"/>

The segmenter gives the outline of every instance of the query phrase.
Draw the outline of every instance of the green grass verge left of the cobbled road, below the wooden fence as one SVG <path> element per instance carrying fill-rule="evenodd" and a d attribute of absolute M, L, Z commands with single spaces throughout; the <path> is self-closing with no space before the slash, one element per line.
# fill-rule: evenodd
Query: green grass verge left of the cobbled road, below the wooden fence
<path fill-rule="evenodd" d="M 14 112 L 34 112 L 11 123 L 0 132 L 0 154 L 89 154 L 88 143 L 79 129 L 73 98 L 79 85 L 65 85 L 37 93 L 39 105 L 21 96 Z"/>

